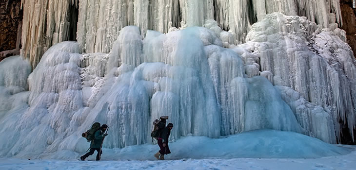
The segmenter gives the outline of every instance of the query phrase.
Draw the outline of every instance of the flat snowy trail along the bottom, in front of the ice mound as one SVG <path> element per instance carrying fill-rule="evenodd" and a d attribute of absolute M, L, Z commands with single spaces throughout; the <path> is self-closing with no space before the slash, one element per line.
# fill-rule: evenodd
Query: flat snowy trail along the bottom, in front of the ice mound
<path fill-rule="evenodd" d="M 356 151 L 316 159 L 181 159 L 166 161 L 73 161 L 0 158 L 1 170 L 355 170 Z"/>

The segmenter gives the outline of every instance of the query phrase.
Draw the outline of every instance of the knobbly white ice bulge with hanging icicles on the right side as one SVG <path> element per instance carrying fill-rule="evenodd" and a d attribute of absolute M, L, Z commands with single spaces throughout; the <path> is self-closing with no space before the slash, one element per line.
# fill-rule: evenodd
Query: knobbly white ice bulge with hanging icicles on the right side
<path fill-rule="evenodd" d="M 247 65 L 246 74 L 262 75 L 274 85 L 291 87 L 300 98 L 325 109 L 322 111 L 308 106 L 310 104 L 294 109 L 298 119 L 302 115 L 303 122 L 299 123 L 306 130 L 310 129 L 314 135 L 320 133 L 319 129 L 313 130 L 314 125 L 320 124 L 320 119 L 314 118 L 316 115 L 309 114 L 313 112 L 325 117 L 322 124 L 329 132 L 333 132 L 334 127 L 327 119 L 333 120 L 337 140 L 340 140 L 340 128 L 346 121 L 354 136 L 352 129 L 356 121 L 356 61 L 344 37 L 345 32 L 336 27 L 323 29 L 306 17 L 276 13 L 254 24 L 247 35 L 247 43 L 239 45 L 235 51 L 242 55 Z M 304 121 L 310 121 L 307 124 L 311 127 L 305 127 Z M 327 136 L 333 139 L 333 134 Z"/>

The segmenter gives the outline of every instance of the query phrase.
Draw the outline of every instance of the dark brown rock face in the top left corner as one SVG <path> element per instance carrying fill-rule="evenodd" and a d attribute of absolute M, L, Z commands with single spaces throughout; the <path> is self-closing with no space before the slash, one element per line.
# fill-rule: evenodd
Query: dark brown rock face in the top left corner
<path fill-rule="evenodd" d="M 19 24 L 22 22 L 21 0 L 0 1 L 0 61 L 11 54 L 18 54 L 17 47 Z M 20 41 L 19 41 L 20 42 Z M 18 44 L 19 45 L 19 44 Z M 18 49 L 14 51 L 14 49 Z M 9 51 L 11 50 L 11 51 Z"/>

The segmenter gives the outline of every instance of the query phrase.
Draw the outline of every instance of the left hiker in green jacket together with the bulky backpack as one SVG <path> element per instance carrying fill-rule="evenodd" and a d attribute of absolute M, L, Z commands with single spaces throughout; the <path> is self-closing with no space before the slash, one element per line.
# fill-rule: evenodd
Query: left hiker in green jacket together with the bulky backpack
<path fill-rule="evenodd" d="M 103 142 L 105 136 L 108 135 L 107 133 L 105 133 L 108 126 L 106 124 L 103 124 L 100 127 L 100 124 L 99 124 L 99 128 L 97 128 L 98 122 L 96 122 L 96 123 L 93 124 L 91 129 L 89 129 L 87 132 L 83 133 L 83 134 L 86 134 L 86 136 L 82 134 L 82 136 L 87 138 L 88 140 L 92 139 L 91 143 L 90 143 L 90 151 L 88 153 L 85 153 L 83 156 L 80 156 L 80 160 L 82 160 L 82 161 L 84 161 L 85 158 L 87 158 L 88 156 L 94 154 L 95 151 L 98 152 L 96 160 L 97 161 L 100 160 L 100 156 L 102 154 L 102 151 L 101 151 L 102 142 Z M 95 131 L 94 136 L 92 138 L 90 138 L 91 137 L 90 135 L 92 134 L 93 131 Z M 87 136 L 89 136 L 89 138 Z"/>

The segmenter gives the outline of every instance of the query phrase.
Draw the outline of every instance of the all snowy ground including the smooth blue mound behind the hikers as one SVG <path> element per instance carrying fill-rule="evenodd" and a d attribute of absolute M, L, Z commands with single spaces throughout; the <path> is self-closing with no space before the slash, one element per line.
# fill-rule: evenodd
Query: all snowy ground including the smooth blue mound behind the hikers
<path fill-rule="evenodd" d="M 165 161 L 155 160 L 157 145 L 144 144 L 103 149 L 78 161 L 83 153 L 60 151 L 33 157 L 0 158 L 0 170 L 77 170 L 77 169 L 183 169 L 183 170 L 353 170 L 356 146 L 333 145 L 294 132 L 257 130 L 237 135 L 209 138 L 182 137 L 170 144 L 172 154 Z M 59 160 L 60 159 L 60 160 Z"/>

